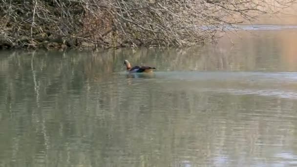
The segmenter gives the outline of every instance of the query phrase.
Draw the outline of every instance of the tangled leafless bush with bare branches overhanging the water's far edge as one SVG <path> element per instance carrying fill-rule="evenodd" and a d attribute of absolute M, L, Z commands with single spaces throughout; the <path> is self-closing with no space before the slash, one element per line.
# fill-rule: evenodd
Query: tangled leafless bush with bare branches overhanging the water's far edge
<path fill-rule="evenodd" d="M 1 47 L 191 45 L 295 0 L 0 0 Z"/>

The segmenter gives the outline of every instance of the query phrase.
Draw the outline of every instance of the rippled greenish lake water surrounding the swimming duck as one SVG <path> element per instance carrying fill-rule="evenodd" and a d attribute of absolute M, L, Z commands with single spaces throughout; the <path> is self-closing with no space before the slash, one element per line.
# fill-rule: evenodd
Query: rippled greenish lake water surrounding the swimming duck
<path fill-rule="evenodd" d="M 296 166 L 297 29 L 247 29 L 184 49 L 1 51 L 0 167 Z M 125 59 L 157 70 L 127 75 Z"/>

